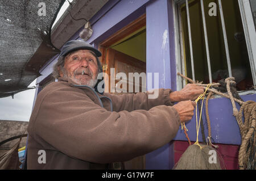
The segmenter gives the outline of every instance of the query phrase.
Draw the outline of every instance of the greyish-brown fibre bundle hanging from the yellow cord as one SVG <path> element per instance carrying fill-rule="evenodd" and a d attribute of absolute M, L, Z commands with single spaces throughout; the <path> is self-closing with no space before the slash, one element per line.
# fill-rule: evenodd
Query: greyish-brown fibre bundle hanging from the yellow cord
<path fill-rule="evenodd" d="M 174 166 L 175 170 L 221 170 L 225 169 L 224 165 L 221 164 L 222 158 L 217 151 L 208 145 L 190 145 L 187 150 L 181 155 L 179 161 Z M 212 153 L 215 150 L 216 154 Z M 212 156 L 212 157 L 211 157 Z M 216 159 L 212 159 L 216 157 Z M 210 161 L 209 161 L 210 159 Z M 221 159 L 221 162 L 220 162 Z M 224 162 L 222 162 L 224 163 Z"/>

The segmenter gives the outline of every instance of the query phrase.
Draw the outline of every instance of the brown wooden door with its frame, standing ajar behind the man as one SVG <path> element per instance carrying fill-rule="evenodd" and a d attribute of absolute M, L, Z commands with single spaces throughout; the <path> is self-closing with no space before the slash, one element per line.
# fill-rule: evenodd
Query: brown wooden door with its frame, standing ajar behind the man
<path fill-rule="evenodd" d="M 129 78 L 128 73 L 146 73 L 146 63 L 138 60 L 134 57 L 128 56 L 127 54 L 118 52 L 111 47 L 113 44 L 122 40 L 123 38 L 129 36 L 131 33 L 135 31 L 141 30 L 141 28 L 146 27 L 146 14 L 143 14 L 138 19 L 134 20 L 126 27 L 123 27 L 121 30 L 116 32 L 114 35 L 110 36 L 108 39 L 104 40 L 99 47 L 102 56 L 100 57 L 101 64 L 103 66 L 104 73 L 108 74 L 108 76 L 104 77 L 105 79 L 105 92 L 108 91 L 111 93 L 110 88 L 114 89 L 115 86 L 110 86 L 110 69 L 115 68 L 114 77 L 117 73 L 123 72 L 126 73 L 126 77 Z M 108 78 L 108 79 L 107 79 Z M 115 83 L 119 82 L 119 80 L 115 80 Z M 139 83 L 140 91 L 142 90 L 142 82 Z M 127 87 L 129 87 L 129 83 L 127 83 Z M 134 89 L 135 90 L 135 87 Z M 129 93 L 117 93 L 113 94 L 129 94 Z M 136 157 L 131 159 L 130 161 L 124 162 L 125 169 L 145 169 L 145 156 Z"/>

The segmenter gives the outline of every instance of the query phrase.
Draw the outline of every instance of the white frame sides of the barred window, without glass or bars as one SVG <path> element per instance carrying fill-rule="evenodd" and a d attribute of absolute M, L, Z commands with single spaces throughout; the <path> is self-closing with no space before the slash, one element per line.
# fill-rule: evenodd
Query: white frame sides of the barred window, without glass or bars
<path fill-rule="evenodd" d="M 188 0 L 189 1 L 189 0 Z M 240 7 L 240 14 L 242 19 L 242 26 L 245 33 L 246 45 L 248 50 L 251 75 L 253 77 L 254 90 L 238 91 L 239 95 L 256 94 L 256 31 L 254 27 L 253 14 L 251 13 L 251 7 L 249 0 L 237 0 Z M 185 0 L 172 1 L 172 7 L 174 12 L 174 29 L 175 29 L 175 57 L 176 57 L 176 72 L 184 74 L 185 72 L 185 58 L 183 49 L 183 38 L 181 28 L 181 14 L 180 6 L 185 3 Z M 254 40 L 254 41 L 253 41 Z M 176 76 L 177 91 L 181 90 L 185 86 L 185 79 L 180 76 Z"/>

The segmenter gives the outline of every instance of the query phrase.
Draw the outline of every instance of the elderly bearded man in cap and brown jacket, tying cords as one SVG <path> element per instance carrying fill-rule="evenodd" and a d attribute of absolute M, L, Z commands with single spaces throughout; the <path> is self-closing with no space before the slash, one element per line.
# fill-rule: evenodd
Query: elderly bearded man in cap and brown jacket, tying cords
<path fill-rule="evenodd" d="M 108 169 L 167 144 L 191 120 L 204 89 L 159 89 L 113 95 L 99 93 L 101 52 L 85 41 L 68 41 L 54 75 L 36 99 L 28 126 L 28 169 Z M 179 102 L 173 106 L 174 102 Z"/>

